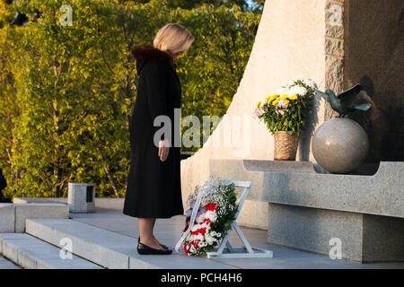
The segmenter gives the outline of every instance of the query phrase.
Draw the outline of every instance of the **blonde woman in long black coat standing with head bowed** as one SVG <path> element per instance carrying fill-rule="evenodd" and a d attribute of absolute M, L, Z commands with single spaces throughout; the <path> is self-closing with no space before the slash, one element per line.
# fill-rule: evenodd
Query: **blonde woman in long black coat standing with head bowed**
<path fill-rule="evenodd" d="M 193 40 L 185 27 L 170 23 L 158 31 L 153 46 L 132 49 L 139 82 L 129 123 L 131 161 L 123 213 L 138 218 L 139 254 L 171 254 L 154 237 L 155 219 L 184 213 L 180 129 L 174 127 L 180 125 L 174 110 L 180 110 L 181 89 L 174 62 Z"/>

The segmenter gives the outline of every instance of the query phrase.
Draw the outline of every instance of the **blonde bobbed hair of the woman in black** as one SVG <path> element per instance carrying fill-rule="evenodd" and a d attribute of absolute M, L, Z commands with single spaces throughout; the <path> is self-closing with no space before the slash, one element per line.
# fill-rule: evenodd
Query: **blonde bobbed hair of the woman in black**
<path fill-rule="evenodd" d="M 171 55 L 185 53 L 194 37 L 187 28 L 177 23 L 169 23 L 162 27 L 154 37 L 154 48 L 169 52 Z"/>

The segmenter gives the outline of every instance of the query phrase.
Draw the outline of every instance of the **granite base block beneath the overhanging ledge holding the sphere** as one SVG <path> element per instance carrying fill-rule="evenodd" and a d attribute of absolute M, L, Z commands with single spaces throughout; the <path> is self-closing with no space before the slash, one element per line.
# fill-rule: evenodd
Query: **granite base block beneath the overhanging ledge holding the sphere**
<path fill-rule="evenodd" d="M 285 204 L 269 204 L 268 215 L 269 243 L 329 256 L 340 239 L 343 259 L 404 261 L 403 218 Z"/>

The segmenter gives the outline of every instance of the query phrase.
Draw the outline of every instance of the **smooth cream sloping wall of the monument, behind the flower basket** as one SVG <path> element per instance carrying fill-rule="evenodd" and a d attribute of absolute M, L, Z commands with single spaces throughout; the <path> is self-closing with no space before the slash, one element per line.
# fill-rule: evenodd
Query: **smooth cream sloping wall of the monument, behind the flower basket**
<path fill-rule="evenodd" d="M 262 122 L 252 117 L 257 101 L 295 76 L 311 78 L 324 88 L 327 74 L 326 4 L 325 0 L 271 0 L 265 3 L 249 62 L 229 109 L 204 147 L 181 161 L 184 206 L 194 187 L 208 178 L 210 159 L 273 160 L 273 136 Z M 301 138 L 297 154 L 300 161 L 313 161 L 312 132 L 329 119 L 324 100 L 317 100 L 313 109 L 312 124 Z M 251 204 L 254 203 L 249 205 L 247 202 L 244 208 L 251 211 L 268 209 L 267 205 L 261 208 Z"/>

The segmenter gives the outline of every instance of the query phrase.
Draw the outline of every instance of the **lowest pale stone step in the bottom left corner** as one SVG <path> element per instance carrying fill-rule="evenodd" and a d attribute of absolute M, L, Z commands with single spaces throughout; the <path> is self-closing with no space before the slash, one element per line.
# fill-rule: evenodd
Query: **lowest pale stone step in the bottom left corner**
<path fill-rule="evenodd" d="M 0 233 L 0 255 L 25 269 L 102 269 L 83 258 L 60 257 L 60 248 L 26 233 Z"/>

